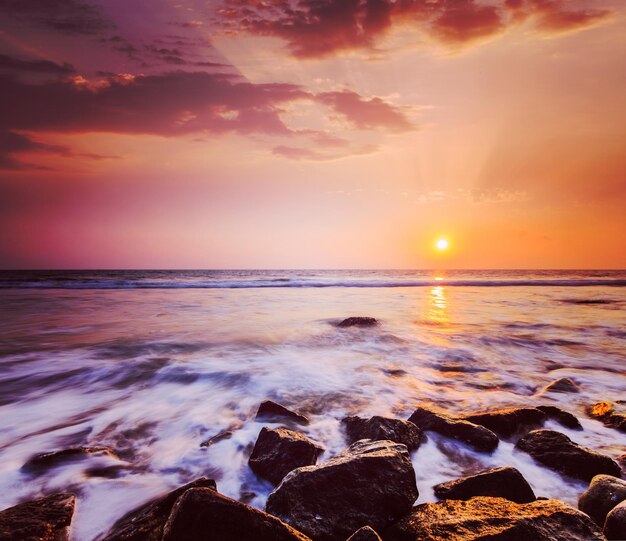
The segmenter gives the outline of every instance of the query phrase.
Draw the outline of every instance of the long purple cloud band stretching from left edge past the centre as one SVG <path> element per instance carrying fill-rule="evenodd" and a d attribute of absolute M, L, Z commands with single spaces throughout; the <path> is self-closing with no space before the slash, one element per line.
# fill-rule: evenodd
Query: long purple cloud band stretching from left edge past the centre
<path fill-rule="evenodd" d="M 349 91 L 314 94 L 298 85 L 253 84 L 228 73 L 177 71 L 93 80 L 75 75 L 38 84 L 0 76 L 0 129 L 12 134 L 162 136 L 230 132 L 306 137 L 322 146 L 345 146 L 337 137 L 285 125 L 281 119 L 285 106 L 300 101 L 323 105 L 330 116 L 340 116 L 357 129 L 396 132 L 412 127 L 401 108 L 376 97 L 363 98 Z M 37 150 L 32 145 L 19 147 L 10 138 L 4 144 L 0 152 L 5 156 Z M 24 140 L 22 145 L 26 145 Z"/>

